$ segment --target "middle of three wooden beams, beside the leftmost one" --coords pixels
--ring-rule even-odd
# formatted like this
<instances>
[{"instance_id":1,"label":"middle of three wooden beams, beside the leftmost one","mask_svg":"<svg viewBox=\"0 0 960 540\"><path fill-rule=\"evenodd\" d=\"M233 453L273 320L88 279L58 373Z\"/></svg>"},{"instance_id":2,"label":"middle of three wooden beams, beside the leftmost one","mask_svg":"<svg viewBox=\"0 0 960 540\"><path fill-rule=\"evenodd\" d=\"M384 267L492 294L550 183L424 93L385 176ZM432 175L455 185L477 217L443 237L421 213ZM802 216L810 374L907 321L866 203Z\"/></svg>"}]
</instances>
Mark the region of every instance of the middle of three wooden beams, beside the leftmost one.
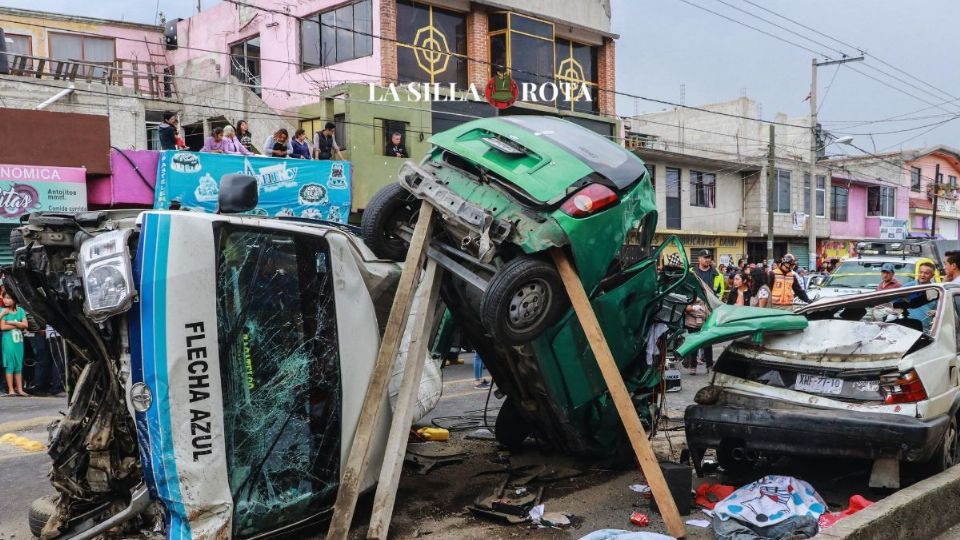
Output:
<instances>
[{"instance_id":1,"label":"middle of three wooden beams, beside the leftmost one","mask_svg":"<svg viewBox=\"0 0 960 540\"><path fill-rule=\"evenodd\" d=\"M373 512L367 538L386 540L393 516L393 505L397 498L397 485L403 470L403 457L406 454L407 440L410 438L410 424L413 423L413 409L420 394L420 379L423 377L423 359L430 354L430 330L433 328L437 313L437 299L440 296L440 275L435 261L427 261L421 287L425 287L418 298L410 330L410 347L403 368L400 393L393 410L393 422L390 425L390 437L387 450L383 455L380 469L380 481L373 499Z\"/></svg>"}]
</instances>

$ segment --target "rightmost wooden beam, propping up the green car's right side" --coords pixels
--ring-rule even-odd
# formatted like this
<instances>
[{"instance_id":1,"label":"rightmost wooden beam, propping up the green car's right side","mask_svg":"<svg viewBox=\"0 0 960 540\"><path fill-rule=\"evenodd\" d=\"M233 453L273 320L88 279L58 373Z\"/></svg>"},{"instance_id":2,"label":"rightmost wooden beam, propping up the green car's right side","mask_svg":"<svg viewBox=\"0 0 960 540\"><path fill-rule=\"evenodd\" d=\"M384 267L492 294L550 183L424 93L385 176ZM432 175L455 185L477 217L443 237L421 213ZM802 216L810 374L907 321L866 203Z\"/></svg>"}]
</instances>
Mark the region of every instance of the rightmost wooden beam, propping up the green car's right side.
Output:
<instances>
[{"instance_id":1,"label":"rightmost wooden beam, propping up the green car's right side","mask_svg":"<svg viewBox=\"0 0 960 540\"><path fill-rule=\"evenodd\" d=\"M553 248L550 250L550 254L560 271L560 277L563 279L563 285L567 289L571 304L573 304L573 310L580 320L583 333L587 336L587 341L593 350L593 356L597 359L597 365L600 366L603 380L606 381L607 388L610 390L610 397L613 398L617 413L620 415L620 421L623 422L623 427L627 431L627 437L630 439L630 445L633 446L633 452L637 456L640 470L643 472L647 484L650 485L653 498L657 501L657 507L660 509L663 521L667 525L667 531L677 538L682 538L686 536L687 532L683 526L683 520L680 519L677 503L673 500L667 481L663 477L663 471L660 469L660 463L657 462L657 456L653 453L653 448L647 440L647 433L643 429L643 424L640 423L640 416L633 406L633 400L630 399L627 386L623 383L620 370L617 369L617 364L613 360L610 346L607 345L607 340L603 337L603 330L600 328L600 322L597 321L596 313L593 312L593 306L590 305L587 292L583 289L583 283L580 282L577 271L570 264L563 250Z\"/></svg>"}]
</instances>

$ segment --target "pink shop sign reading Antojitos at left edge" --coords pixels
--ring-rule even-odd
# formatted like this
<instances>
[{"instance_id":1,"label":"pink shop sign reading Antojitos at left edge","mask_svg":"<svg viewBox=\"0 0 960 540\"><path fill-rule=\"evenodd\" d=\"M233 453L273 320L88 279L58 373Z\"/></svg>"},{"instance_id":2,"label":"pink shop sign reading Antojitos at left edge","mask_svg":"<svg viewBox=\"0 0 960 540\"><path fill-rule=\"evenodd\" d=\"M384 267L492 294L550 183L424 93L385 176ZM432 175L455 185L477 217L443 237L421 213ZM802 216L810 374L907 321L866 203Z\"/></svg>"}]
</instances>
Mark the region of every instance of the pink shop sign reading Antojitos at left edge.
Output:
<instances>
[{"instance_id":1,"label":"pink shop sign reading Antojitos at left edge","mask_svg":"<svg viewBox=\"0 0 960 540\"><path fill-rule=\"evenodd\" d=\"M83 167L0 165L0 223L19 223L30 212L84 212Z\"/></svg>"}]
</instances>

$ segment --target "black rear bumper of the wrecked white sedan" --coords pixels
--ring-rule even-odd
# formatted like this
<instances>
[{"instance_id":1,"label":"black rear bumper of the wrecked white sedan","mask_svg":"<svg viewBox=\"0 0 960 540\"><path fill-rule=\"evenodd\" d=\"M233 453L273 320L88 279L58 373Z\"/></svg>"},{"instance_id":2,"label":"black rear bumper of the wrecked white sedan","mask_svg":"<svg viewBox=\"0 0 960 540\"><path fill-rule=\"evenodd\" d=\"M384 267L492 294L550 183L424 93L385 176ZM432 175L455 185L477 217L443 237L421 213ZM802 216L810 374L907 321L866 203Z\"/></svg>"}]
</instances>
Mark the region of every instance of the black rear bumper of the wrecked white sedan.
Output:
<instances>
[{"instance_id":1,"label":"black rear bumper of the wrecked white sedan","mask_svg":"<svg viewBox=\"0 0 960 540\"><path fill-rule=\"evenodd\" d=\"M691 405L684 415L687 445L703 451L721 442L763 453L924 461L933 455L949 418L890 413L783 408L769 398L738 396L736 405ZM779 405L779 407L777 407Z\"/></svg>"}]
</instances>

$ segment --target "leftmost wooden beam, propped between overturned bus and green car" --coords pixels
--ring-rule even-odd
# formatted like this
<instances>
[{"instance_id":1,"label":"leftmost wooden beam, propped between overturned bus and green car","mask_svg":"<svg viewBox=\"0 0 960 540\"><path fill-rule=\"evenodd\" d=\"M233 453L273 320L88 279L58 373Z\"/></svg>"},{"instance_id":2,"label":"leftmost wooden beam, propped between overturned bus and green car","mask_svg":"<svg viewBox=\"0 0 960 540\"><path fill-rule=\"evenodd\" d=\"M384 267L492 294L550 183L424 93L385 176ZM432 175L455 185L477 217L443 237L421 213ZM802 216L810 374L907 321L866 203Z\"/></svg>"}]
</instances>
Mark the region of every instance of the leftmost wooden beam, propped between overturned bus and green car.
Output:
<instances>
[{"instance_id":1,"label":"leftmost wooden beam, propped between overturned bus and green car","mask_svg":"<svg viewBox=\"0 0 960 540\"><path fill-rule=\"evenodd\" d=\"M410 249L407 250L407 260L404 262L400 282L397 284L397 292L393 297L393 306L390 308L387 328L384 330L383 340L380 342L377 362L374 364L370 383L367 386L367 393L363 398L363 409L360 411L360 419L353 435L350 454L347 457L343 473L340 475L337 502L333 506L333 517L327 531L328 540L346 540L347 534L350 532L353 512L357 506L357 498L360 496L360 483L363 481L364 472L369 465L370 445L377 426L377 419L380 417L380 406L387 392L387 384L390 382L390 368L393 366L393 361L400 348L400 338L403 336L410 304L413 300L414 285L416 285L417 278L420 277L420 268L427 252L427 243L430 238L430 231L433 228L432 218L433 207L429 204L421 205L420 217L417 220L416 228L413 230Z\"/></svg>"}]
</instances>

